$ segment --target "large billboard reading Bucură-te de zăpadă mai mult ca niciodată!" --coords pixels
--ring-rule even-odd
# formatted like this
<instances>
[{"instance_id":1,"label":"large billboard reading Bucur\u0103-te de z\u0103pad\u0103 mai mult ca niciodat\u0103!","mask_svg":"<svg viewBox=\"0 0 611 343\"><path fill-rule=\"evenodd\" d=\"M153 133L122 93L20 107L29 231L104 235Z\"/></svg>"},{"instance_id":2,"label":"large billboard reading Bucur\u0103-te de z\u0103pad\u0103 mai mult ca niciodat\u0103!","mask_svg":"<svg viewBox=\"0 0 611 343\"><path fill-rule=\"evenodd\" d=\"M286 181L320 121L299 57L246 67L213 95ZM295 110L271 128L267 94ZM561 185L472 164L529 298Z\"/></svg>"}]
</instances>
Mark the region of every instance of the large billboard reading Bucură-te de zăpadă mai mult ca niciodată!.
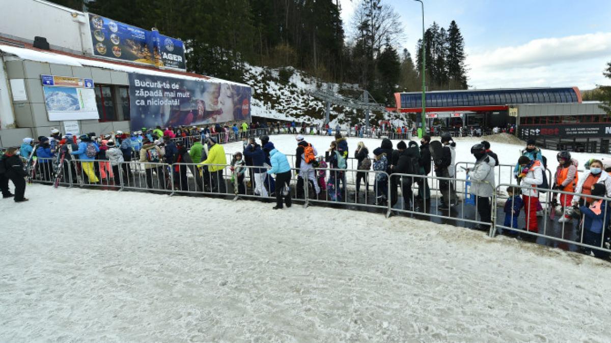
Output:
<instances>
[{"instance_id":1,"label":"large billboard reading Bucur\u0103-te de z\u0103pad\u0103 mai mult ca niciodat\u0103!","mask_svg":"<svg viewBox=\"0 0 611 343\"><path fill-rule=\"evenodd\" d=\"M251 121L251 87L130 73L130 126Z\"/></svg>"}]
</instances>

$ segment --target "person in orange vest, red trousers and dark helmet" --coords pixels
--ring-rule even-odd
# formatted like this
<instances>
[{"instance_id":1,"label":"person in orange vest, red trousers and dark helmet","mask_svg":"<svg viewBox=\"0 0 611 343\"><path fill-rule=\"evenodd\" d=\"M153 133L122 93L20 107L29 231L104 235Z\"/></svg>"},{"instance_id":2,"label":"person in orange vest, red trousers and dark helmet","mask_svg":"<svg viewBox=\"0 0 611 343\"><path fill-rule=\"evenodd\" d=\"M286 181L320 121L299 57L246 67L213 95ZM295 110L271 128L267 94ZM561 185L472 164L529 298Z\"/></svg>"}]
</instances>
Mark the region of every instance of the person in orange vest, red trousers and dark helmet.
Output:
<instances>
[{"instance_id":1,"label":"person in orange vest, red trousers and dark helmet","mask_svg":"<svg viewBox=\"0 0 611 343\"><path fill-rule=\"evenodd\" d=\"M556 155L558 159L558 167L556 168L555 182L552 189L563 190L565 192L575 192L575 188L577 187L577 181L579 181L579 175L577 175L577 161L571 158L571 154L568 151L560 151ZM555 202L555 193L552 193L554 199L552 201ZM571 206L571 201L573 201L572 194L560 194L560 203L558 206L564 209L567 206ZM565 213L560 219L558 219L558 223L568 223L571 222L571 217Z\"/></svg>"}]
</instances>

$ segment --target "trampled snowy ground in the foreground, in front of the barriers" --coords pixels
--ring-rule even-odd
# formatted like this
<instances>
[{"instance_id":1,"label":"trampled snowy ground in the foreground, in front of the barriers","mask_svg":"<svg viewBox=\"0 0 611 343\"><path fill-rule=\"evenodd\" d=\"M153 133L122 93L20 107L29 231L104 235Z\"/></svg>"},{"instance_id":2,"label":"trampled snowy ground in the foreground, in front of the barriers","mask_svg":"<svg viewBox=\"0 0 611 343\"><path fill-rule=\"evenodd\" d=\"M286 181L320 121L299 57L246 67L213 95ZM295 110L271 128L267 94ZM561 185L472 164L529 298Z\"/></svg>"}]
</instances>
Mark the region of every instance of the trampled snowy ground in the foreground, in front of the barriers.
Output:
<instances>
[{"instance_id":1,"label":"trampled snowy ground in the foreground, in front of the barriers","mask_svg":"<svg viewBox=\"0 0 611 343\"><path fill-rule=\"evenodd\" d=\"M2 342L610 337L611 267L589 256L331 208L26 196L0 201Z\"/></svg>"}]
</instances>

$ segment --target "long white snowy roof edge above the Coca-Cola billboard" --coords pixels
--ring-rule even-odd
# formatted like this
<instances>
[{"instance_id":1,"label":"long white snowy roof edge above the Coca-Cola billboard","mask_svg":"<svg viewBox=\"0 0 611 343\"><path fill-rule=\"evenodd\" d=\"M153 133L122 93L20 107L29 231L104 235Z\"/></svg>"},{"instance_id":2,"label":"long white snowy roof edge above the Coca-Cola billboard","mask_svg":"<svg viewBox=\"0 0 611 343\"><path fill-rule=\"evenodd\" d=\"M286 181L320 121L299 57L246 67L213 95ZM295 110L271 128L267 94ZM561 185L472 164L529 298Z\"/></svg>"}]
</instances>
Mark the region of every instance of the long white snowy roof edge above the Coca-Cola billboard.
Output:
<instances>
[{"instance_id":1,"label":"long white snowy roof edge above the Coca-Cola billboard","mask_svg":"<svg viewBox=\"0 0 611 343\"><path fill-rule=\"evenodd\" d=\"M234 84L243 87L250 87L246 84L240 84L238 82L227 81L223 79L211 78L210 76L203 76L195 73L187 73L185 71L175 70L156 70L152 67L139 67L135 65L129 65L121 62L111 62L99 59L93 59L91 57L78 56L68 54L67 52L61 51L43 51L35 48L18 48L10 45L0 45L0 52L4 54L10 54L19 57L24 60L32 60L36 62L56 63L62 65L70 65L72 67L95 67L104 68L109 70L124 71L125 73L139 73L148 74L154 76L164 76L166 78L178 78L194 81L211 81L211 82L222 82L224 84Z\"/></svg>"}]
</instances>

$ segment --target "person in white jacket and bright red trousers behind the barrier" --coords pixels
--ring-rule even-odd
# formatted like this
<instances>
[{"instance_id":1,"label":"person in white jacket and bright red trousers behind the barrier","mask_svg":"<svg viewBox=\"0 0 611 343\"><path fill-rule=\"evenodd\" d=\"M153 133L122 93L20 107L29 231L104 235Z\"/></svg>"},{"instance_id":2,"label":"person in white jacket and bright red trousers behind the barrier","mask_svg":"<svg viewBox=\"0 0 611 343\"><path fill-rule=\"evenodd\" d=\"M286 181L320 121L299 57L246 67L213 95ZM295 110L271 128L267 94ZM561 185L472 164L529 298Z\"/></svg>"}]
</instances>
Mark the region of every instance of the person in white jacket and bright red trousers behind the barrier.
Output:
<instances>
[{"instance_id":1,"label":"person in white jacket and bright red trousers behind the barrier","mask_svg":"<svg viewBox=\"0 0 611 343\"><path fill-rule=\"evenodd\" d=\"M528 156L520 156L518 165L518 181L522 186L526 229L538 233L539 225L536 219L536 205L538 203L539 191L536 187L543 184L543 165L538 160L532 161Z\"/></svg>"}]
</instances>

